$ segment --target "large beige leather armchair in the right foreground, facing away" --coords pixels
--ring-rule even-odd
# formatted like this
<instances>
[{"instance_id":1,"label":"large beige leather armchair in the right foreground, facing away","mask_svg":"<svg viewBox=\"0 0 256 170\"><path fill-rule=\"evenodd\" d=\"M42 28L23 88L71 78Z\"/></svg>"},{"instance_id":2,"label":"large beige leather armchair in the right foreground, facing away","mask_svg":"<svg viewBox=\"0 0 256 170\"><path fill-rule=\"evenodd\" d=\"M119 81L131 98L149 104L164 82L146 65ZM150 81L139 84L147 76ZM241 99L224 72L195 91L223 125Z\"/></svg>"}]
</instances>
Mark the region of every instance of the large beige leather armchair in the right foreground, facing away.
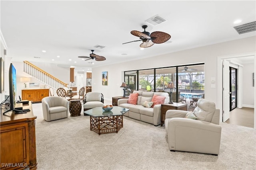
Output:
<instances>
[{"instance_id":1,"label":"large beige leather armchair in the right foreground, facing away","mask_svg":"<svg viewBox=\"0 0 256 170\"><path fill-rule=\"evenodd\" d=\"M220 109L202 98L193 112L166 111L164 125L169 149L218 155L221 137L219 122Z\"/></svg>"}]
</instances>

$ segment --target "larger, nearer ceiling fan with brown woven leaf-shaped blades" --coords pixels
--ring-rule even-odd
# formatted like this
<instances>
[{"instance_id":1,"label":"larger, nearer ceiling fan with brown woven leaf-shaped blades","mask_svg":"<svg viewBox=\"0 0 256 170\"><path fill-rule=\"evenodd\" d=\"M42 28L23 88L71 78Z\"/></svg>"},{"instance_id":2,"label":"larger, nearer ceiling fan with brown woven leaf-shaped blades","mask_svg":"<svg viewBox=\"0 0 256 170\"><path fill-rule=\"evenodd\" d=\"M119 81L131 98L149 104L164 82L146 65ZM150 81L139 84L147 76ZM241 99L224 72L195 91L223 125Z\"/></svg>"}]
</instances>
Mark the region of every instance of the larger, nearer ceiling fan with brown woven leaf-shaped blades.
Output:
<instances>
[{"instance_id":1,"label":"larger, nearer ceiling fan with brown woven leaf-shaped blades","mask_svg":"<svg viewBox=\"0 0 256 170\"><path fill-rule=\"evenodd\" d=\"M140 40L135 40L135 41L142 41L143 43L140 44L140 47L142 47L142 48L151 47L152 45L154 45L154 43L156 43L156 44L164 43L171 38L171 35L169 35L168 33L161 32L161 31L155 31L150 34L149 32L146 31L147 27L148 27L147 25L142 26L142 28L144 29L143 32L131 31L132 35L140 37ZM130 41L127 43L131 43L131 42L135 42L135 41ZM123 43L123 44L126 44L126 43Z\"/></svg>"}]
</instances>

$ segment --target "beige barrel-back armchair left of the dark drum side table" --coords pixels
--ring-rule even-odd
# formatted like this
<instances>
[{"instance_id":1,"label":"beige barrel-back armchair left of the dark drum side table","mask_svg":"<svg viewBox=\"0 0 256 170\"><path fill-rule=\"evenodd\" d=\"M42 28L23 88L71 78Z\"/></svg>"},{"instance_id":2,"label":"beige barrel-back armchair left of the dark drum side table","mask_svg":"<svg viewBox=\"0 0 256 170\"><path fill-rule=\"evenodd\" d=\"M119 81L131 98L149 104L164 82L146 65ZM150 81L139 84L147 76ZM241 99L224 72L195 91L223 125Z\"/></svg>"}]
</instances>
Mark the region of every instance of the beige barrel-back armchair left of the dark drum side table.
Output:
<instances>
[{"instance_id":1,"label":"beige barrel-back armchair left of the dark drum side table","mask_svg":"<svg viewBox=\"0 0 256 170\"><path fill-rule=\"evenodd\" d=\"M68 117L69 101L60 96L48 96L42 99L44 120L53 121Z\"/></svg>"}]
</instances>

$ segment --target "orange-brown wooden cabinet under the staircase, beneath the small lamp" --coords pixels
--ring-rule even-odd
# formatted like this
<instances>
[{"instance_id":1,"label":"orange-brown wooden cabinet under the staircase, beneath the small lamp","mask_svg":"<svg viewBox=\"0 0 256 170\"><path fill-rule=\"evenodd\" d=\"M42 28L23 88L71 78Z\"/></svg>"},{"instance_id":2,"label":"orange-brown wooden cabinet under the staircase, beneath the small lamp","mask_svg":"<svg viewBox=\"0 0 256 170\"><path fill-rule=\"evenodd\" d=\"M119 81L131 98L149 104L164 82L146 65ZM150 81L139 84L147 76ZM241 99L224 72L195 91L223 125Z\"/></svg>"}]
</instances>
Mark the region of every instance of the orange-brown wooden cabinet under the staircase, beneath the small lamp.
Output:
<instances>
[{"instance_id":1,"label":"orange-brown wooden cabinet under the staircase, beneath the small lamp","mask_svg":"<svg viewBox=\"0 0 256 170\"><path fill-rule=\"evenodd\" d=\"M49 89L22 89L22 100L29 100L34 102L42 102L42 98L49 96Z\"/></svg>"}]
</instances>

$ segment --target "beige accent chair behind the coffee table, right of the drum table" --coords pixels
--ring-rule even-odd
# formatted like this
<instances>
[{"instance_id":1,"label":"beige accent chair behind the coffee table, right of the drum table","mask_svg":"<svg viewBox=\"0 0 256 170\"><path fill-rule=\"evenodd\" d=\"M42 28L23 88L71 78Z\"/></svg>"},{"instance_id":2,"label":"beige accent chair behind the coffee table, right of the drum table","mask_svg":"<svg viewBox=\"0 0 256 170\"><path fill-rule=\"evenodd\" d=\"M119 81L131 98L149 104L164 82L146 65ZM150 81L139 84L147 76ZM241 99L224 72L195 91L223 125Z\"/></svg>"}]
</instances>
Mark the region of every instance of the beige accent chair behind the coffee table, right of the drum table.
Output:
<instances>
[{"instance_id":1,"label":"beige accent chair behind the coffee table, right of the drum table","mask_svg":"<svg viewBox=\"0 0 256 170\"><path fill-rule=\"evenodd\" d=\"M84 96L84 111L104 106L104 96L100 92L88 92ZM84 113L84 115L86 115Z\"/></svg>"}]
</instances>

